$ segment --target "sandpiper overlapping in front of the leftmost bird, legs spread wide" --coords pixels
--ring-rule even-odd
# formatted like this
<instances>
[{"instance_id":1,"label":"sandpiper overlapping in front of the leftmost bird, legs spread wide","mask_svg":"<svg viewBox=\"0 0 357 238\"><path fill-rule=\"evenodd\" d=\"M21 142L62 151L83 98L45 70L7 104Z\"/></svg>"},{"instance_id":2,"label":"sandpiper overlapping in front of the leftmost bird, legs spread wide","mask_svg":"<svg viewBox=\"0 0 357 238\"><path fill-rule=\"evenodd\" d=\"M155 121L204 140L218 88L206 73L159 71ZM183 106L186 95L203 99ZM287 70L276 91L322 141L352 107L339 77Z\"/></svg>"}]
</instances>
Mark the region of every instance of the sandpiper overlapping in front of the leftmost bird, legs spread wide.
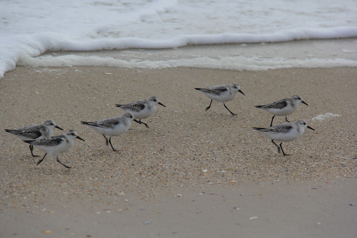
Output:
<instances>
[{"instance_id":1,"label":"sandpiper overlapping in front of the leftmost bird, legs spread wide","mask_svg":"<svg viewBox=\"0 0 357 238\"><path fill-rule=\"evenodd\" d=\"M74 143L74 138L85 141L77 135L76 131L69 130L60 136L52 136L40 140L32 140L32 141L24 141L24 142L29 143L30 145L34 145L37 148L39 148L41 151L45 152L45 156L41 160L37 161L37 165L39 165L48 154L49 156L56 157L57 162L62 164L64 167L72 168L63 164L59 160L58 155L60 153L65 153L72 148Z\"/></svg>"}]
</instances>

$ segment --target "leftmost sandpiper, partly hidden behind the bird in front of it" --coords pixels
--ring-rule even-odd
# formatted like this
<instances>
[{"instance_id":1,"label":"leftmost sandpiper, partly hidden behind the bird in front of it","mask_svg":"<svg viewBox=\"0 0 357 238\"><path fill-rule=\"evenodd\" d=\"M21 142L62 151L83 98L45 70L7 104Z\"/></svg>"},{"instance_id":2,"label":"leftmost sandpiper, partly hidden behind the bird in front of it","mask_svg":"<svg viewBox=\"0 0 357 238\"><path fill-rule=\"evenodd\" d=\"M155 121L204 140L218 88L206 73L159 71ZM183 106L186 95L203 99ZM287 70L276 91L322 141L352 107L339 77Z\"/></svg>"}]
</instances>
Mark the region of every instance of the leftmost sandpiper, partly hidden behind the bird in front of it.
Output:
<instances>
[{"instance_id":1,"label":"leftmost sandpiper, partly hidden behind the bird in front of it","mask_svg":"<svg viewBox=\"0 0 357 238\"><path fill-rule=\"evenodd\" d=\"M52 136L53 128L55 127L63 131L63 129L59 126L56 126L55 122L52 120L45 121L43 125L36 124L26 126L17 130L5 129L5 131L17 136L22 141L41 140L43 138ZM32 157L39 157L38 155L34 155L34 153L32 152L34 150L34 146L30 145L29 147Z\"/></svg>"}]
</instances>

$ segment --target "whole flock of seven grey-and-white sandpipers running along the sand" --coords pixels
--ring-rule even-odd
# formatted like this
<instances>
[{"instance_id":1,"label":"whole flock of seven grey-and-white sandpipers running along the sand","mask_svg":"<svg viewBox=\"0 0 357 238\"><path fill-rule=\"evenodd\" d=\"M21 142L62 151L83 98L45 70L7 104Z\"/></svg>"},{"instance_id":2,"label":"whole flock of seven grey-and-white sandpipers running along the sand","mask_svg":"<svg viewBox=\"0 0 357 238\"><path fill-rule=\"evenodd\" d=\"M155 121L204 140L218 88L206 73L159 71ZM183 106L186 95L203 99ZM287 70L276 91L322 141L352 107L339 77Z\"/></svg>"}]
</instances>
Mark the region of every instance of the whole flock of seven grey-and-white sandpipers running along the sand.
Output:
<instances>
[{"instance_id":1,"label":"whole flock of seven grey-and-white sandpipers running along the sand","mask_svg":"<svg viewBox=\"0 0 357 238\"><path fill-rule=\"evenodd\" d=\"M231 85L218 85L213 86L210 88L195 88L198 91L201 91L204 95L211 99L210 106L206 107L206 111L211 107L212 101L222 102L224 107L232 114L237 115L231 112L225 102L233 100L236 97L237 92L242 93L245 95L241 90L240 86L236 83ZM305 131L305 128L310 128L311 130L315 130L307 125L306 121L304 120L297 120L295 123L289 122L287 120L287 115L293 113L299 106L300 103L304 102L299 95L294 95L291 98L284 98L275 102L272 102L267 105L255 106L257 108L262 108L267 112L273 115L270 127L268 128L261 128L261 127L253 127L254 131L258 131L266 135L272 143L278 148L278 153L281 151L284 156L288 155L283 151L282 143L294 141L299 138ZM101 121L95 122L86 122L82 121L83 125L89 126L94 129L96 132L102 134L106 140L106 144L111 146L113 151L115 150L112 143L111 137L112 136L120 136L129 130L130 124L132 121L135 121L140 124L144 124L147 128L149 126L142 122L142 119L146 119L154 114L156 110L156 105L159 104L161 106L166 107L164 104L159 102L159 99L156 96L151 96L147 100L141 100L137 102L131 102L129 104L120 105L117 104L116 106L121 108L122 110L126 111L120 117L111 117ZM280 125L272 126L273 120L275 116L285 116L285 120L288 123L283 123ZM139 120L139 121L138 121ZM59 126L56 126L55 122L52 120L45 121L43 125L31 125L27 126L18 130L5 130L6 132L12 133L16 135L20 140L24 141L25 143L30 144L30 151L33 157L38 157L34 155L33 148L34 146L39 148L39 150L44 151L44 157L37 162L39 165L46 155L56 157L57 162L65 166L66 168L72 168L65 164L63 164L58 155L60 153L64 153L70 150L73 146L74 139L83 140L81 137L77 135L77 132L74 130L69 130L63 135L59 136L52 136L52 132L54 128L58 128L63 130ZM108 138L109 137L109 140ZM280 147L276 145L274 141L280 141Z\"/></svg>"}]
</instances>

